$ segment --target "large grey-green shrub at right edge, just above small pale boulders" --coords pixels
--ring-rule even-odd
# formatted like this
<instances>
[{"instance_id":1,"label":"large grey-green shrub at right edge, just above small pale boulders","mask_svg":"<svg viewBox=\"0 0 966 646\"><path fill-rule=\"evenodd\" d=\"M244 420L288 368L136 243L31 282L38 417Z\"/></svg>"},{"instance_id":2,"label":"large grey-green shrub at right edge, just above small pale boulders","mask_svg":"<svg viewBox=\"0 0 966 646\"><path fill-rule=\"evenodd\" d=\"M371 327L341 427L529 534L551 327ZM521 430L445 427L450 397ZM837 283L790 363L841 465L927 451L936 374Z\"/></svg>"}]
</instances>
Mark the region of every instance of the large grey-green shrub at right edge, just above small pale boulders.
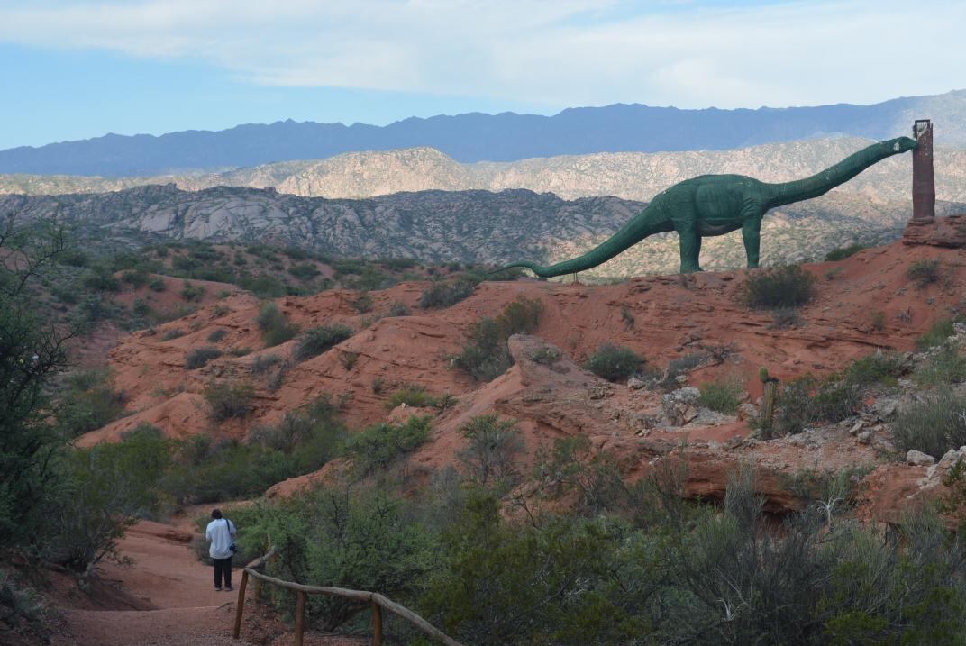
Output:
<instances>
[{"instance_id":1,"label":"large grey-green shrub at right edge, just above small pale boulders","mask_svg":"<svg viewBox=\"0 0 966 646\"><path fill-rule=\"evenodd\" d=\"M916 449L937 460L966 445L966 398L941 388L903 408L895 417L893 443L902 453Z\"/></svg>"}]
</instances>

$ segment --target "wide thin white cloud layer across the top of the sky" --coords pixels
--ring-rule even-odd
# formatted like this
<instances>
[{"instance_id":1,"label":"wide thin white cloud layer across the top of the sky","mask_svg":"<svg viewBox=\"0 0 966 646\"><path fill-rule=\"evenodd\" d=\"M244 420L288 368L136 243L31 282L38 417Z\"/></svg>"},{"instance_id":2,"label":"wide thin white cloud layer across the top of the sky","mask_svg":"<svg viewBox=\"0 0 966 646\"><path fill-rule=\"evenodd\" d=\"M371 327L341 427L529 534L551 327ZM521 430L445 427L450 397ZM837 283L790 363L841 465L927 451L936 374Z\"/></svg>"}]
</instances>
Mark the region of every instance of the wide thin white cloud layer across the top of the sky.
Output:
<instances>
[{"instance_id":1,"label":"wide thin white cloud layer across the top of the sky","mask_svg":"<svg viewBox=\"0 0 966 646\"><path fill-rule=\"evenodd\" d=\"M10 3L7 3L8 5ZM966 3L149 0L0 4L0 42L199 59L253 83L755 107L966 87Z\"/></svg>"}]
</instances>

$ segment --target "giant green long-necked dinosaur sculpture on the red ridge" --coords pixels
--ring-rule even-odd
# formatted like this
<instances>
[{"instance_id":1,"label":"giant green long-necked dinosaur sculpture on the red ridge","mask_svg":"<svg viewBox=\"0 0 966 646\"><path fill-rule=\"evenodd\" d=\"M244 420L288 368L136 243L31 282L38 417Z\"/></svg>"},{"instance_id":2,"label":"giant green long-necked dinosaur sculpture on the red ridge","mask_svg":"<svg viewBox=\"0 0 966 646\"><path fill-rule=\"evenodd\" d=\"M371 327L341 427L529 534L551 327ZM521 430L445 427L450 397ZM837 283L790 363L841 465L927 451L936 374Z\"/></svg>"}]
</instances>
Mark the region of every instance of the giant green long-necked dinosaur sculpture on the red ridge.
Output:
<instances>
[{"instance_id":1,"label":"giant green long-necked dinosaur sculpture on the red ridge","mask_svg":"<svg viewBox=\"0 0 966 646\"><path fill-rule=\"evenodd\" d=\"M606 263L648 236L676 231L681 238L681 273L690 273L701 271L698 256L703 236L724 236L737 229L741 229L745 242L748 267L758 267L761 218L768 210L824 195L872 164L916 146L916 141L909 137L880 141L821 173L795 182L765 183L744 175L701 175L656 195L611 238L578 258L549 267L514 263L502 269L526 267L541 278L577 273Z\"/></svg>"}]
</instances>

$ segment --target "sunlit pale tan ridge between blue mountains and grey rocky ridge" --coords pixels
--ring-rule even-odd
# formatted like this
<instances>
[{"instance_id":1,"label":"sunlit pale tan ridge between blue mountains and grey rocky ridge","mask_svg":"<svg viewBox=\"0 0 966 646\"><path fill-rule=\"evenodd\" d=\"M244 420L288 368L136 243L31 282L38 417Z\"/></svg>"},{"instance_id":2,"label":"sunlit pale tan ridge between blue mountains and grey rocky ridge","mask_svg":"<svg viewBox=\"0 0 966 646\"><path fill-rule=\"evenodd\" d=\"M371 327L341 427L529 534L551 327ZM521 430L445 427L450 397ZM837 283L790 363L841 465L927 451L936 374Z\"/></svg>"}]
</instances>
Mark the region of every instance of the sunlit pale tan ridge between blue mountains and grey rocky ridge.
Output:
<instances>
[{"instance_id":1,"label":"sunlit pale tan ridge between blue mountains and grey rocky ridge","mask_svg":"<svg viewBox=\"0 0 966 646\"><path fill-rule=\"evenodd\" d=\"M673 183L713 173L750 175L766 182L807 177L871 143L857 137L766 144L732 151L599 153L462 164L435 149L349 153L197 176L100 179L82 176L0 176L0 193L60 194L123 190L147 183L176 183L186 190L213 186L274 186L309 197L368 198L402 191L526 188L564 199L614 195L649 200ZM966 150L935 151L941 200L966 202ZM891 157L838 190L872 201L908 200L911 161Z\"/></svg>"}]
</instances>

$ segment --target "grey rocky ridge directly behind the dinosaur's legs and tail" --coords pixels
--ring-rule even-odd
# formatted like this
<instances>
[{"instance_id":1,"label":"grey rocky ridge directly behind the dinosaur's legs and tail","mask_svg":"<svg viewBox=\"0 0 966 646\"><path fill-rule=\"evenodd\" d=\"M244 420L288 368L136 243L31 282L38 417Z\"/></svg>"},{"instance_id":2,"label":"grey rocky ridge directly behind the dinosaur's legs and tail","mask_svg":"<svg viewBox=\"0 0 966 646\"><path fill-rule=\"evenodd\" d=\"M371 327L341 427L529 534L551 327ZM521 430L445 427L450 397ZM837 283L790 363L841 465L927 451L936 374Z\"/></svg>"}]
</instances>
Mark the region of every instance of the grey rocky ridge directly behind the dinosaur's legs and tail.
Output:
<instances>
[{"instance_id":1,"label":"grey rocky ridge directly behind the dinosaur's legs and tail","mask_svg":"<svg viewBox=\"0 0 966 646\"><path fill-rule=\"evenodd\" d=\"M0 198L0 212L59 217L87 235L119 242L266 240L336 256L496 264L549 263L576 256L606 239L643 206L617 197L566 201L524 189L329 200L252 188L189 192L151 185L103 194ZM941 203L938 210L966 211L966 205ZM859 194L833 191L767 216L762 260L796 262L856 240L889 241L898 237L909 213L905 202L873 204ZM741 267L740 235L706 239L702 264ZM588 273L626 276L672 272L677 266L677 237L666 234Z\"/></svg>"}]
</instances>

